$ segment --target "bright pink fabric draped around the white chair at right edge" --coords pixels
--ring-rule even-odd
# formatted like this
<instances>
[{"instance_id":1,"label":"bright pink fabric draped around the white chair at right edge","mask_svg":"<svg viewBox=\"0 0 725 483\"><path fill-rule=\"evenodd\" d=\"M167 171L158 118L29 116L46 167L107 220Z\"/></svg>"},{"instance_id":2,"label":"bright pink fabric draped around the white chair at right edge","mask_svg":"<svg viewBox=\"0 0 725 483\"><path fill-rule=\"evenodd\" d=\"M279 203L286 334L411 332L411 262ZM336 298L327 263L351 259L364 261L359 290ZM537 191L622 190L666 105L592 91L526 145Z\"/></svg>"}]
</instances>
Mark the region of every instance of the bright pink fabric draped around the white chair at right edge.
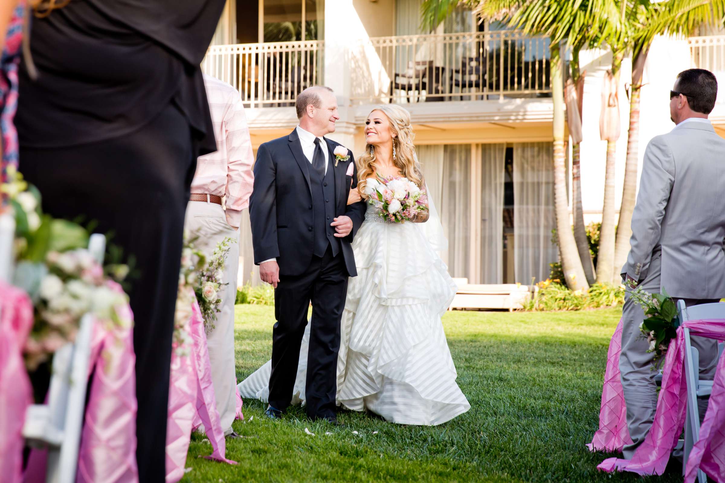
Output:
<instances>
[{"instance_id":1,"label":"bright pink fabric draped around the white chair at right edge","mask_svg":"<svg viewBox=\"0 0 725 483\"><path fill-rule=\"evenodd\" d=\"M711 339L722 339L725 336L725 319L693 320L685 322L682 327L689 328L690 335L694 336ZM663 474L665 471L670 453L677 444L685 421L687 382L684 377L684 332L682 327L677 329L677 337L671 341L667 350L655 419L645 441L639 445L631 460L608 458L597 466L598 469L610 473L632 471L640 475ZM720 361L718 369L722 369L722 367L723 362ZM711 473L713 469L721 468L722 461L725 461L725 437L723 436L725 416L722 409L725 401L718 400L725 395L724 386L725 371L718 370L713 383L713 395L705 414L705 421L709 421L709 424L708 427L703 424L700 440L696 445L696 448L699 447L702 451L698 462L700 469L716 479L717 482L725 481L721 473ZM717 389L717 394L715 389ZM696 462L688 461L688 463L688 474L694 479Z\"/></svg>"}]
</instances>

